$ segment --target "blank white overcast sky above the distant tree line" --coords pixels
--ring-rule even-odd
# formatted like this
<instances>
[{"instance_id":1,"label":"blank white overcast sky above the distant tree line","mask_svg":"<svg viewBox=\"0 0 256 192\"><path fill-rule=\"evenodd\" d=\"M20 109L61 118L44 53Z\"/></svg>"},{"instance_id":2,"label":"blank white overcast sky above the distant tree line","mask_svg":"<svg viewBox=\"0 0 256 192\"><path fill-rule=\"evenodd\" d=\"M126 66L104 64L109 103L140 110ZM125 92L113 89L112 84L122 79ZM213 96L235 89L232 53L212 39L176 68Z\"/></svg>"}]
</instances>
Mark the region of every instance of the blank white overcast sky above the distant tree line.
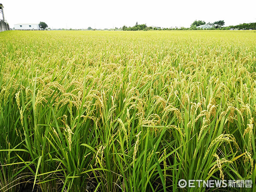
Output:
<instances>
[{"instance_id":1,"label":"blank white overcast sky above the distant tree line","mask_svg":"<svg viewBox=\"0 0 256 192\"><path fill-rule=\"evenodd\" d=\"M50 28L189 27L194 20L225 26L256 22L256 0L1 0L10 27L44 21Z\"/></svg>"}]
</instances>

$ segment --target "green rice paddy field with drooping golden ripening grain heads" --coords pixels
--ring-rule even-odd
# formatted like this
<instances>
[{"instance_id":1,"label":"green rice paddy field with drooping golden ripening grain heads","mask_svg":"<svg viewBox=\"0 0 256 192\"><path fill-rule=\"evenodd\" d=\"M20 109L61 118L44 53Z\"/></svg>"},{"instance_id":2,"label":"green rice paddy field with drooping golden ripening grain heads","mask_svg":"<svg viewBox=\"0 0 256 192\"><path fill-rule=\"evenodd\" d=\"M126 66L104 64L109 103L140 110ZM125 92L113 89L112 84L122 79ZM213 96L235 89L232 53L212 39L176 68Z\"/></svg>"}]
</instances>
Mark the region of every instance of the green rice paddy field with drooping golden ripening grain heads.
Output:
<instances>
[{"instance_id":1,"label":"green rice paddy field with drooping golden ripening grain heads","mask_svg":"<svg viewBox=\"0 0 256 192\"><path fill-rule=\"evenodd\" d=\"M255 31L0 33L0 192L256 191L255 119Z\"/></svg>"}]
</instances>

